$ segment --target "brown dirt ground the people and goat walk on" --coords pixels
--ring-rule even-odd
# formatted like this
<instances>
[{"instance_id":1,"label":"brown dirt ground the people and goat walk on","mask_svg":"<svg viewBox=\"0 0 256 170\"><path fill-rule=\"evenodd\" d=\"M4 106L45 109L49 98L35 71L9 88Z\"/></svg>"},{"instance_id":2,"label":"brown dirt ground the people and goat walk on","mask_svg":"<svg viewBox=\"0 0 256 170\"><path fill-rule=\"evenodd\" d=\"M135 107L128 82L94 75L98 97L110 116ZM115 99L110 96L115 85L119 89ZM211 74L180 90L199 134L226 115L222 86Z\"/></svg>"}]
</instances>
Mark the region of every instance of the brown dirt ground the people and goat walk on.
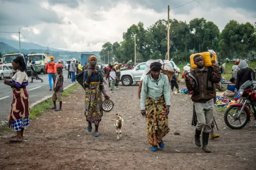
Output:
<instances>
[{"instance_id":1,"label":"brown dirt ground the people and goat walk on","mask_svg":"<svg viewBox=\"0 0 256 170\"><path fill-rule=\"evenodd\" d=\"M64 99L63 111L47 111L31 121L24 132L24 143L6 142L14 132L4 132L0 138L0 169L255 170L255 121L243 129L232 130L224 124L223 113L215 113L220 138L209 140L213 152L206 154L194 144L189 95L171 95L170 133L164 137L164 149L150 150L145 118L141 115L124 122L122 139L117 141L111 119L116 118L116 113L124 120L140 113L137 90L138 86L133 85L108 92L115 106L104 114L100 137L96 138L92 136L94 127L91 133L87 131L84 90L78 88Z\"/></svg>"}]
</instances>

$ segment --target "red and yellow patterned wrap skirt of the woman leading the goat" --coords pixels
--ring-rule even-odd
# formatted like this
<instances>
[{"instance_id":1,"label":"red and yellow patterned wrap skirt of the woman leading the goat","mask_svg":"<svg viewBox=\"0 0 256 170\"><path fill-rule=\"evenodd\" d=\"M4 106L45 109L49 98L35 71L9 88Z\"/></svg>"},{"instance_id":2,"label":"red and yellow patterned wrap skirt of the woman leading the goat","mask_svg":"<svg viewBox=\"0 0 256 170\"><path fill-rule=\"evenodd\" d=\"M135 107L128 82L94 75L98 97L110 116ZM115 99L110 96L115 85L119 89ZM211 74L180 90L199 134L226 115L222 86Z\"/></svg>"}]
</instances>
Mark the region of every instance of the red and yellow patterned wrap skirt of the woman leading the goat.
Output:
<instances>
[{"instance_id":1,"label":"red and yellow patterned wrap skirt of the woman leading the goat","mask_svg":"<svg viewBox=\"0 0 256 170\"><path fill-rule=\"evenodd\" d=\"M170 131L168 127L168 115L165 114L166 102L164 96L158 101L146 98L146 131L150 145L157 145Z\"/></svg>"}]
</instances>

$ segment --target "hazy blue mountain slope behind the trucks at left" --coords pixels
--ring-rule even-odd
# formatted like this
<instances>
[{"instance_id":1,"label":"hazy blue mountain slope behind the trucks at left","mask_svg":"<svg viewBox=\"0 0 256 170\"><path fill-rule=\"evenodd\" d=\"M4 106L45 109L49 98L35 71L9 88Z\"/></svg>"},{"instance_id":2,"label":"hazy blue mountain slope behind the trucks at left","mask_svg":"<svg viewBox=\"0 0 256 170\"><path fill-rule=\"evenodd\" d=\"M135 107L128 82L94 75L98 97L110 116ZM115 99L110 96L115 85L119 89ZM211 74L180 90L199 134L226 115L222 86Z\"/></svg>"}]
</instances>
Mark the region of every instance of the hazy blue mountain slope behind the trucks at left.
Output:
<instances>
[{"instance_id":1,"label":"hazy blue mountain slope behind the trucks at left","mask_svg":"<svg viewBox=\"0 0 256 170\"><path fill-rule=\"evenodd\" d=\"M7 54L10 52L19 53L19 41L4 39L0 37L0 50L2 54ZM30 53L48 53L47 47L43 47L40 45L35 45L34 43L22 42L21 44L21 53L30 54ZM93 54L98 59L100 59L99 51L84 51L84 52L74 52L74 51L65 51L61 49L49 48L50 54L53 55L56 60L58 59L71 59L76 58L79 59L81 54Z\"/></svg>"}]
</instances>

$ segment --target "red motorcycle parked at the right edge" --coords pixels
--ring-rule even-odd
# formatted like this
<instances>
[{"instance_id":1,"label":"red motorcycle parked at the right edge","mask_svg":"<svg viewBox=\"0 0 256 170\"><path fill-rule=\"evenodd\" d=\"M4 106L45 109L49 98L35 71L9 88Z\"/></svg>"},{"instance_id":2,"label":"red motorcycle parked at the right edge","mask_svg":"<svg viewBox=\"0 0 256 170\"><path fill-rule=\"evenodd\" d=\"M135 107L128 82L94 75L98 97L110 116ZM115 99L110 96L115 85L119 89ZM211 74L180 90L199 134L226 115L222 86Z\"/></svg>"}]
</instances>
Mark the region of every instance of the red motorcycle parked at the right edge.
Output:
<instances>
[{"instance_id":1,"label":"red motorcycle parked at the right edge","mask_svg":"<svg viewBox=\"0 0 256 170\"><path fill-rule=\"evenodd\" d=\"M250 121L250 111L256 115L256 81L246 81L238 90L240 103L231 104L224 121L231 129L242 129Z\"/></svg>"}]
</instances>

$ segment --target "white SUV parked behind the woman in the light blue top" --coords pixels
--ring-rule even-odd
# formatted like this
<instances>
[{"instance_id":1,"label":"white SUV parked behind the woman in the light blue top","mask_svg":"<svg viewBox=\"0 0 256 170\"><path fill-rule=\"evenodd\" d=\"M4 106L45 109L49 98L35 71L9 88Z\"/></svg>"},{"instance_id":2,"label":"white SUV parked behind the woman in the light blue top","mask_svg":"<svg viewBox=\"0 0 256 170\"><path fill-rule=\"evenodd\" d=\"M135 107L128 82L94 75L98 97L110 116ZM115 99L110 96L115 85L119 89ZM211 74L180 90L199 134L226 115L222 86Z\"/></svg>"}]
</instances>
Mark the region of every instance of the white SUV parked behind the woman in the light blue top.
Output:
<instances>
[{"instance_id":1,"label":"white SUV parked behind the woman in the light blue top","mask_svg":"<svg viewBox=\"0 0 256 170\"><path fill-rule=\"evenodd\" d=\"M130 86L133 82L140 82L140 78L146 68L146 62L136 65L132 70L121 71L120 80L124 86Z\"/></svg>"}]
</instances>

